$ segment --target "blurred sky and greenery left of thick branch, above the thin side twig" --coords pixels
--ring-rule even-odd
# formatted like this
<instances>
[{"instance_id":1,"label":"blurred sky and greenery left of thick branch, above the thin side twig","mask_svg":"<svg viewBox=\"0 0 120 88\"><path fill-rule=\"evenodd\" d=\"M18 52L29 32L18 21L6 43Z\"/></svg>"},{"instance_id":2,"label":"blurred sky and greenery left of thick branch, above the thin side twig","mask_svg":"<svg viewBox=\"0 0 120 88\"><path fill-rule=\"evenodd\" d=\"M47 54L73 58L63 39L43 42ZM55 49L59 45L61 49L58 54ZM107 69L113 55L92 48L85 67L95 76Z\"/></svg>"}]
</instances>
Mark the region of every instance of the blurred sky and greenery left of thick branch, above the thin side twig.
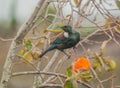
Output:
<instances>
[{"instance_id":1,"label":"blurred sky and greenery left of thick branch, above the thin side twig","mask_svg":"<svg viewBox=\"0 0 120 88\"><path fill-rule=\"evenodd\" d=\"M0 0L0 36L10 38L28 19L38 0Z\"/></svg>"}]
</instances>

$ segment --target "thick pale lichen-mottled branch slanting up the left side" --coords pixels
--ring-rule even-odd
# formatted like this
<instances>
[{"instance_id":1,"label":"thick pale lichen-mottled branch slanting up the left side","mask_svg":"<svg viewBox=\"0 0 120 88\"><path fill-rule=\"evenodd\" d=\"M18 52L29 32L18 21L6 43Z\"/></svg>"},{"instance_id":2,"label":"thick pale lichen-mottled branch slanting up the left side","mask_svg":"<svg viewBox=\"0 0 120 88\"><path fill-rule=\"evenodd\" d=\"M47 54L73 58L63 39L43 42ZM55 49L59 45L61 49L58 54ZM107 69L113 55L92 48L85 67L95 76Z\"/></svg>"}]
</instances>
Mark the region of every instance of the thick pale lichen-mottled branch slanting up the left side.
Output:
<instances>
[{"instance_id":1,"label":"thick pale lichen-mottled branch slanting up the left side","mask_svg":"<svg viewBox=\"0 0 120 88\"><path fill-rule=\"evenodd\" d=\"M0 83L0 88L7 88L7 84L8 81L11 77L11 73L12 73L12 60L15 58L15 48L17 46L17 44L19 44L22 39L26 36L26 34L31 30L31 28L33 27L33 25L35 24L34 20L38 14L39 11L41 11L44 9L44 7L46 6L47 0L40 0L38 2L37 7L35 8L33 14L31 15L31 17L28 19L28 21L26 21L23 26L19 29L16 37L13 39L5 64L4 64L4 69L3 69L3 75L2 75L2 79L1 79L1 83Z\"/></svg>"}]
</instances>

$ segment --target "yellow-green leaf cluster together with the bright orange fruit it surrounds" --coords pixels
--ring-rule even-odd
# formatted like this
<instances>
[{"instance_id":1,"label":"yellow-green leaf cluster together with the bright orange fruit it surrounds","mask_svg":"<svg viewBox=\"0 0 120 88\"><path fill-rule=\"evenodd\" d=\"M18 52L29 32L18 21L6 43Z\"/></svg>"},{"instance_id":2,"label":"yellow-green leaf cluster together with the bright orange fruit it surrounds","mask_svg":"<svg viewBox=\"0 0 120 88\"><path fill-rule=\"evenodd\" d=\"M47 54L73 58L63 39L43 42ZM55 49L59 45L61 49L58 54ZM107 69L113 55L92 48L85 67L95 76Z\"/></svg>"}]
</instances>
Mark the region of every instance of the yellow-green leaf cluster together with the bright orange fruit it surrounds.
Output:
<instances>
[{"instance_id":1,"label":"yellow-green leaf cluster together with the bright orange fruit it surrounds","mask_svg":"<svg viewBox=\"0 0 120 88\"><path fill-rule=\"evenodd\" d=\"M90 61L85 57L79 57L73 62L72 66L70 66L66 72L67 79L65 81L65 88L76 88L73 86L75 85L74 81L92 82L92 79L96 79L95 76L99 74L99 72L102 73L106 71L107 74L116 69L116 62L111 59L111 57L107 58L104 56L105 47L108 42L109 40L102 43L99 54L93 52L94 56L92 57L93 61L91 66ZM90 53L87 53L87 55L88 54ZM97 80L99 80L98 77Z\"/></svg>"}]
</instances>

